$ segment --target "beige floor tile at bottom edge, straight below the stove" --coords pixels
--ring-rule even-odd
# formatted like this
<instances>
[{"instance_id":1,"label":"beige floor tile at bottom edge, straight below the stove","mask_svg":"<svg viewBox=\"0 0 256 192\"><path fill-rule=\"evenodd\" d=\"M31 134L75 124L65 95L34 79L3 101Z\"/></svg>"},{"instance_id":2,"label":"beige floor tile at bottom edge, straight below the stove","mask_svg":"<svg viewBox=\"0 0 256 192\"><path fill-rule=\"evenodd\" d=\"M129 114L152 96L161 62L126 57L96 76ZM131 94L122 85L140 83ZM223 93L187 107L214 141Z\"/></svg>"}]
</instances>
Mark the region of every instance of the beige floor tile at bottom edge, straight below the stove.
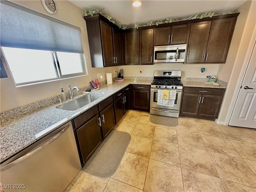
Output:
<instances>
[{"instance_id":1,"label":"beige floor tile at bottom edge, straight below the stove","mask_svg":"<svg viewBox=\"0 0 256 192\"><path fill-rule=\"evenodd\" d=\"M183 192L180 167L150 159L144 191Z\"/></svg>"}]
</instances>

